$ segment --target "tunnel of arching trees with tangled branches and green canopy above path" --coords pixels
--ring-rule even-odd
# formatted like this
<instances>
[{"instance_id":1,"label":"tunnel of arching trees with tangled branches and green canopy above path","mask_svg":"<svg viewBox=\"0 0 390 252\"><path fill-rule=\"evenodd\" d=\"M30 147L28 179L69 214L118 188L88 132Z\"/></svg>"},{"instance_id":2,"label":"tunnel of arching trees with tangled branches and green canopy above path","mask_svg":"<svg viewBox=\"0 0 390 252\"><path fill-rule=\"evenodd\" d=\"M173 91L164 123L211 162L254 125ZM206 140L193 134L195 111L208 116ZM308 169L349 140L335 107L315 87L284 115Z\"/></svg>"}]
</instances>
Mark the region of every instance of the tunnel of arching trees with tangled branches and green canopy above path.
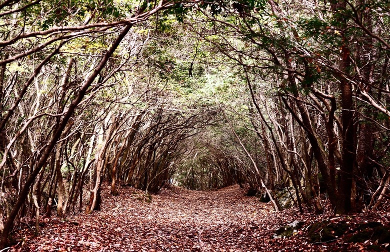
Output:
<instances>
[{"instance_id":1,"label":"tunnel of arching trees with tangled branches and green canopy above path","mask_svg":"<svg viewBox=\"0 0 390 252\"><path fill-rule=\"evenodd\" d=\"M23 216L98 210L103 181L113 195L287 186L302 212L324 193L335 213L374 209L390 182L389 13L387 0L1 1L0 247Z\"/></svg>"}]
</instances>

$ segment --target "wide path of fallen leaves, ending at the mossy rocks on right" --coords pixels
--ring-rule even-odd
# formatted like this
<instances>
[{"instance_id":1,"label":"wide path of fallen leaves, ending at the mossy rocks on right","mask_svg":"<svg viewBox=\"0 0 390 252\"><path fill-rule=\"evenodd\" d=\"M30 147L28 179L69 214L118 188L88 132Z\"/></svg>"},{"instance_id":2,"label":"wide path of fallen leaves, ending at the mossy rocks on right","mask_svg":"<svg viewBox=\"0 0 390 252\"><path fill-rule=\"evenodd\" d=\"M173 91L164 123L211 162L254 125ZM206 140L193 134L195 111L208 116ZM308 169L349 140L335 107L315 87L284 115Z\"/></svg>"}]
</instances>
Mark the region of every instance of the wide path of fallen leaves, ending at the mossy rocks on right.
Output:
<instances>
[{"instance_id":1,"label":"wide path of fallen leaves, ending at the mossy rocks on right","mask_svg":"<svg viewBox=\"0 0 390 252\"><path fill-rule=\"evenodd\" d=\"M216 191L103 189L99 212L43 218L40 235L14 251L263 251L281 219L238 185ZM266 249L265 249L266 250Z\"/></svg>"}]
</instances>

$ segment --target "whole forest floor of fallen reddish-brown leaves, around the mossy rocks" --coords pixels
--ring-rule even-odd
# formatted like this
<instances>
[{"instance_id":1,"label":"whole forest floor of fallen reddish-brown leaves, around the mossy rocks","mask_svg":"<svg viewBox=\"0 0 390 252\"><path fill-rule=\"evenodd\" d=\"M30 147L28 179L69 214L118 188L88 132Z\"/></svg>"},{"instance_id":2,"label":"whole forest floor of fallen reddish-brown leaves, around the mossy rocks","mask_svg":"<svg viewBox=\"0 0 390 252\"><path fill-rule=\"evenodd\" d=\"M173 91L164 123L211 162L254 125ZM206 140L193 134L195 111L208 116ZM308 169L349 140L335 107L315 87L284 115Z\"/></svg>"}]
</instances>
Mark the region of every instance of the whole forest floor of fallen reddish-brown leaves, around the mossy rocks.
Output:
<instances>
[{"instance_id":1,"label":"whole forest floor of fallen reddish-brown leaves, around the mossy rocks","mask_svg":"<svg viewBox=\"0 0 390 252\"><path fill-rule=\"evenodd\" d=\"M33 228L14 233L17 244L11 251L381 251L390 247L375 245L378 240L373 238L350 241L361 223L388 224L388 209L338 217L299 214L296 208L275 212L270 202L244 196L245 192L238 185L213 191L173 187L161 189L149 200L144 192L127 186L114 197L104 185L101 211L67 218L43 216L39 235L33 235ZM303 225L293 236L272 237L294 220ZM312 242L309 227L325 220L347 223L348 228L328 242ZM33 226L33 219L25 221Z\"/></svg>"}]
</instances>

